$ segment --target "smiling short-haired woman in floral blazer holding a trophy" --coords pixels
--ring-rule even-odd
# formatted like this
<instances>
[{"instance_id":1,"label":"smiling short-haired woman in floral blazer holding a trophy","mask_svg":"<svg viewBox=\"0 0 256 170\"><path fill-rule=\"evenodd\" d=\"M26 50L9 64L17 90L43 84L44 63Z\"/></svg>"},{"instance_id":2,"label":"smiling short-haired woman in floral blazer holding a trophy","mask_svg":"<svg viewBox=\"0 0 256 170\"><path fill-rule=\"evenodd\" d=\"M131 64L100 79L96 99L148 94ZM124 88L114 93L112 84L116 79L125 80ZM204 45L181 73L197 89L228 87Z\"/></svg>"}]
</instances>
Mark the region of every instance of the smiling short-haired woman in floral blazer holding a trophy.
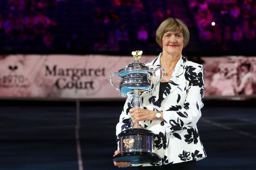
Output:
<instances>
[{"instance_id":1,"label":"smiling short-haired woman in floral blazer holding a trophy","mask_svg":"<svg viewBox=\"0 0 256 170\"><path fill-rule=\"evenodd\" d=\"M189 42L189 30L180 19L163 21L157 29L156 41L163 52L146 65L152 69L163 67L165 78L152 95L143 97L141 108L133 108L133 99L127 98L116 134L139 122L156 134L154 152L162 157L162 161L143 165L114 162L114 165L140 166L147 170L194 170L195 162L206 157L196 125L203 107L203 66L187 61L181 55ZM154 83L162 76L158 71L152 79ZM119 150L114 152L115 155L118 153Z\"/></svg>"}]
</instances>

